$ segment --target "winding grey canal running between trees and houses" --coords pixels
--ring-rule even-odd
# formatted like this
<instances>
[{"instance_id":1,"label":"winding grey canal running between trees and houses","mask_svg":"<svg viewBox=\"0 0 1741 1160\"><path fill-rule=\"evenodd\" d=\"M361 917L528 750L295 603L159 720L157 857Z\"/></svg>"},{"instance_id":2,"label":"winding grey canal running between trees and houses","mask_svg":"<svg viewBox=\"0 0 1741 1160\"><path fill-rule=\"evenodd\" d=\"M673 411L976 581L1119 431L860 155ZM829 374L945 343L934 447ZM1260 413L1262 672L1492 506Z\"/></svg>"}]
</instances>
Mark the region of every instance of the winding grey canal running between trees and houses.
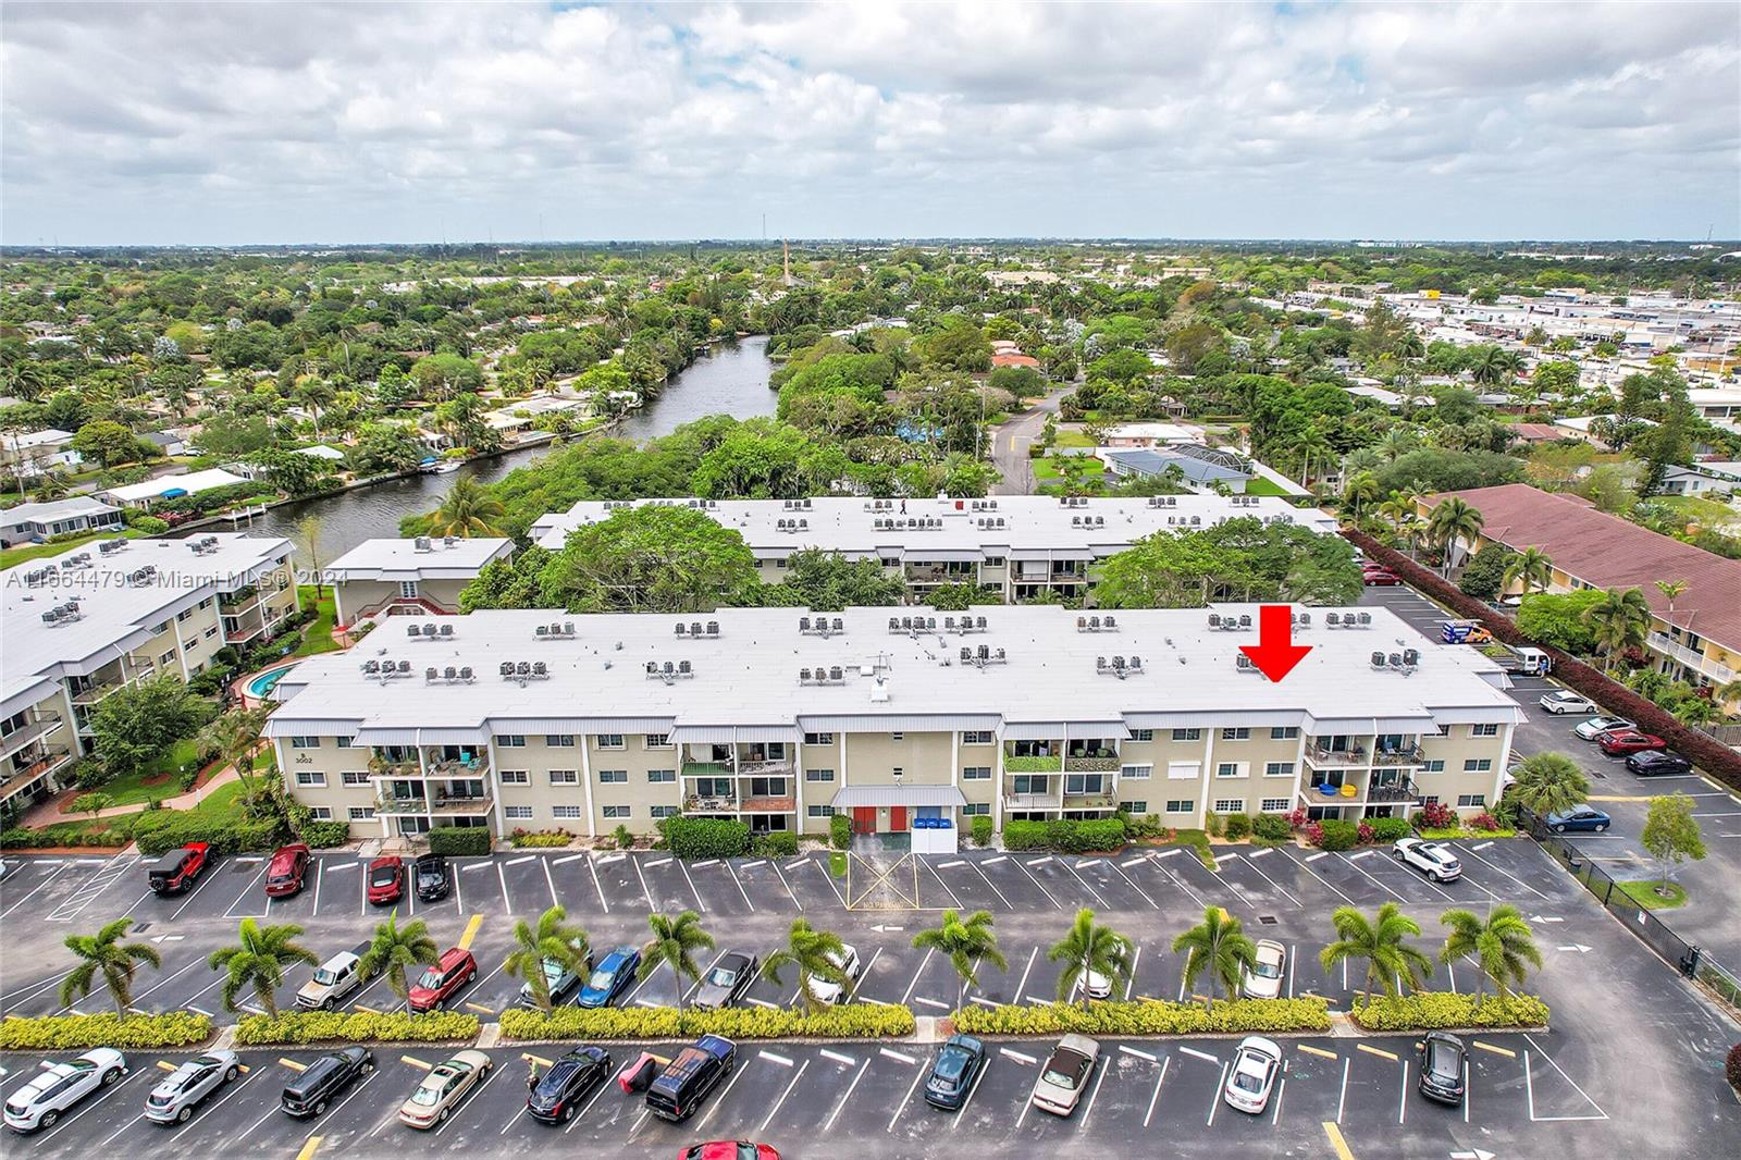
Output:
<instances>
[{"instance_id":1,"label":"winding grey canal running between trees and houses","mask_svg":"<svg viewBox=\"0 0 1741 1160\"><path fill-rule=\"evenodd\" d=\"M695 366L672 378L658 399L625 418L616 435L637 441L669 435L703 415L736 418L773 415L778 395L768 390L771 373L768 340L761 334L731 347L714 347ZM404 516L434 510L447 488L461 477L494 482L515 467L526 467L548 453L548 448L526 448L474 460L447 475L407 475L373 488L284 503L256 517L252 526L242 524L240 529L287 536L292 535L296 521L310 514L320 516L320 554L331 561L364 540L397 536Z\"/></svg>"}]
</instances>

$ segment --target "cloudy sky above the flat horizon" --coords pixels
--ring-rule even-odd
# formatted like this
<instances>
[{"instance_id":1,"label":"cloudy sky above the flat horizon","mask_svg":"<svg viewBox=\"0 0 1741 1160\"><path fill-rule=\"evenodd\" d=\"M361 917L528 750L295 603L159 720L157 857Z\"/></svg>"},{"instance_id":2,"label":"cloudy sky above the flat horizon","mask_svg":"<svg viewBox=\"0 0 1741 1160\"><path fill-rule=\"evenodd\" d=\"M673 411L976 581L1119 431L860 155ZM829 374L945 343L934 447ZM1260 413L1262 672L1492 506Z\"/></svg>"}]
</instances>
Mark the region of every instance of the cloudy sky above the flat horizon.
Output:
<instances>
[{"instance_id":1,"label":"cloudy sky above the flat horizon","mask_svg":"<svg viewBox=\"0 0 1741 1160\"><path fill-rule=\"evenodd\" d=\"M0 240L1741 237L1741 5L0 5Z\"/></svg>"}]
</instances>

